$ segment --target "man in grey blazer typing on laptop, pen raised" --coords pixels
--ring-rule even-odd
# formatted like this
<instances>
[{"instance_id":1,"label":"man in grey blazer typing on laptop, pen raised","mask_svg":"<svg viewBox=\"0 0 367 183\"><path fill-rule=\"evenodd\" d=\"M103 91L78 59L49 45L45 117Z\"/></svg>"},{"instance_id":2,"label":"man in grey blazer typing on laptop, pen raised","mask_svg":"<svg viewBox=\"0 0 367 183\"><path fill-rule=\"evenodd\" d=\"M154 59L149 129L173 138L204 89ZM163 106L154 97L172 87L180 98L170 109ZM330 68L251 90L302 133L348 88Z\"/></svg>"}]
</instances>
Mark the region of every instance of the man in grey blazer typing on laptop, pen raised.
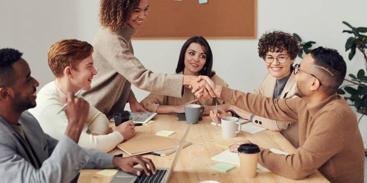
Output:
<instances>
[{"instance_id":1,"label":"man in grey blazer typing on laptop, pen raised","mask_svg":"<svg viewBox=\"0 0 367 183\"><path fill-rule=\"evenodd\" d=\"M89 104L66 96L68 124L60 141L44 133L38 121L26 111L36 106L37 80L28 63L15 49L0 49L0 177L2 182L70 182L81 168L119 167L140 174L133 165L152 161L141 156L120 157L77 143L88 116ZM55 111L57 112L57 111ZM76 180L76 179L74 179Z\"/></svg>"}]
</instances>

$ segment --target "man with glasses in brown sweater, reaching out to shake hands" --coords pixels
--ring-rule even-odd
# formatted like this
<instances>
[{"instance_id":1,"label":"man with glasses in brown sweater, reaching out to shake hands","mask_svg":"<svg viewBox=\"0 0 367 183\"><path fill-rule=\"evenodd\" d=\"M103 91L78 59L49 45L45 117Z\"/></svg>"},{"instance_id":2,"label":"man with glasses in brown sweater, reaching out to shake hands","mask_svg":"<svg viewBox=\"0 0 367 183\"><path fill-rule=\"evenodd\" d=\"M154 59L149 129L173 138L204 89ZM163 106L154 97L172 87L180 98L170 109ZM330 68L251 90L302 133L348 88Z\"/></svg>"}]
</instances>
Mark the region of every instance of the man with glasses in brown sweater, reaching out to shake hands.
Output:
<instances>
[{"instance_id":1,"label":"man with glasses in brown sweater, reaching out to shake hands","mask_svg":"<svg viewBox=\"0 0 367 183\"><path fill-rule=\"evenodd\" d=\"M299 122L300 147L296 152L281 155L261 148L261 165L293 179L319 170L331 182L361 183L364 153L356 115L336 94L345 73L345 62L337 51L319 47L295 66L295 94L299 97L272 99L210 84L221 100L255 115ZM196 95L200 97L200 93L201 90ZM249 141L236 142L231 151L242 143Z\"/></svg>"}]
</instances>

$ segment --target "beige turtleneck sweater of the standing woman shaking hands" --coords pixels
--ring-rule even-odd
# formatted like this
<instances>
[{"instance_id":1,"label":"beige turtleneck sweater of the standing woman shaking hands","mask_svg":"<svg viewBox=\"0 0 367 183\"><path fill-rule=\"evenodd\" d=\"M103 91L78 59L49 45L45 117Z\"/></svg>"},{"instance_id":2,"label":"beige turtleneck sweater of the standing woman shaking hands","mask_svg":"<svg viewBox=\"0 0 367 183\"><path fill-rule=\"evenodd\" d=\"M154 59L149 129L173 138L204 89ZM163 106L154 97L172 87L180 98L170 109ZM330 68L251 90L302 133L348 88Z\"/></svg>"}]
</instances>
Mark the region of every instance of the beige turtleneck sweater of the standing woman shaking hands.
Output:
<instances>
[{"instance_id":1,"label":"beige turtleneck sweater of the standing woman shaking hands","mask_svg":"<svg viewBox=\"0 0 367 183\"><path fill-rule=\"evenodd\" d=\"M83 96L104 114L125 108L133 95L131 84L153 93L182 97L182 75L153 73L134 56L131 38L135 33L127 24L119 34L102 27L95 36L93 59L98 73Z\"/></svg>"}]
</instances>

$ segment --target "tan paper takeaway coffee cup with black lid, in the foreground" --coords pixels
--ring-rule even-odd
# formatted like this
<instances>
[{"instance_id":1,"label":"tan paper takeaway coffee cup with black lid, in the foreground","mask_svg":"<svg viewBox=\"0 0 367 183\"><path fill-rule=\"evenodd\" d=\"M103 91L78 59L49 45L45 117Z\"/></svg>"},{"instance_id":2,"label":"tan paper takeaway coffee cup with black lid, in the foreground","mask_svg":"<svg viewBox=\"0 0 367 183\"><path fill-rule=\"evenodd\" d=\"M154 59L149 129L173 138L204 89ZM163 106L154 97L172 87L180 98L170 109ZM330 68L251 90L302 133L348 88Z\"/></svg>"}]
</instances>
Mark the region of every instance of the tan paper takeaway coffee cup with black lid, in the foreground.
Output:
<instances>
[{"instance_id":1,"label":"tan paper takeaway coffee cup with black lid, in the foreground","mask_svg":"<svg viewBox=\"0 0 367 183\"><path fill-rule=\"evenodd\" d=\"M260 148L256 144L245 143L240 145L237 151L240 156L241 174L246 178L255 177Z\"/></svg>"}]
</instances>

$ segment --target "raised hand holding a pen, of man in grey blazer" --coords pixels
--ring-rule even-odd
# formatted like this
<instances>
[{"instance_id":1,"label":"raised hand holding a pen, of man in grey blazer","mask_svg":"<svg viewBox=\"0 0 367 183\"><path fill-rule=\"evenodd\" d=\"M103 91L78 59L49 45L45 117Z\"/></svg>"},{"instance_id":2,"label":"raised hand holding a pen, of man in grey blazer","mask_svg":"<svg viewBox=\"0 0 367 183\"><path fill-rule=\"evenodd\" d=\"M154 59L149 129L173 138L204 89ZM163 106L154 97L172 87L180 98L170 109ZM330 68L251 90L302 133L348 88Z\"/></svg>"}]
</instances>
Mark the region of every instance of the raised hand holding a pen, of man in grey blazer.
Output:
<instances>
[{"instance_id":1,"label":"raised hand holding a pen, of man in grey blazer","mask_svg":"<svg viewBox=\"0 0 367 183\"><path fill-rule=\"evenodd\" d=\"M68 120L65 135L78 143L81 130L88 116L89 104L82 98L74 98L72 92L67 93L65 102L67 103L65 114Z\"/></svg>"}]
</instances>

